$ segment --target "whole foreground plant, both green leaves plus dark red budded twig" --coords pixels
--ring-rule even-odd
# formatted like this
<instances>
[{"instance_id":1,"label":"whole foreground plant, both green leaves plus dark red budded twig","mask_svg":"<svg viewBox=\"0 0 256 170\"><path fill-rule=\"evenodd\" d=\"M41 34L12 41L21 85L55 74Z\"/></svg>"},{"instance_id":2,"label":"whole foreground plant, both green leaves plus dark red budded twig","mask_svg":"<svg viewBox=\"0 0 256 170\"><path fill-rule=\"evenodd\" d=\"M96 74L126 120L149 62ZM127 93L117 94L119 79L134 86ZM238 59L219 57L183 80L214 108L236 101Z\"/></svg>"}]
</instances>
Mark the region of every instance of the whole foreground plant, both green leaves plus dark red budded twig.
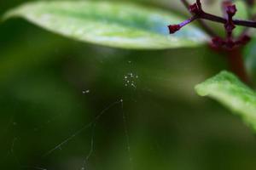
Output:
<instances>
[{"instance_id":1,"label":"whole foreground plant, both green leaves plus dark red budded twig","mask_svg":"<svg viewBox=\"0 0 256 170\"><path fill-rule=\"evenodd\" d=\"M209 44L211 47L209 50L227 56L231 71L243 82L232 73L223 71L216 77L197 85L196 92L217 99L231 111L239 114L256 130L256 94L246 85L253 84L255 65L251 65L246 70L244 59L251 59L252 56L242 56L243 46L253 37L248 27L256 27L256 23L233 19L236 18L236 6L231 1L224 2L226 16L224 18L205 13L199 0L191 6L187 1L182 2L193 16L179 25L177 23L182 20L180 17L161 9L146 8L132 3L92 1L26 3L10 10L3 19L23 17L62 36L113 48L196 48ZM247 7L248 15L253 20L254 9L249 8L253 7L253 1L238 1L236 4L238 11L239 8ZM194 20L199 20L201 27L187 26ZM203 20L224 24L226 38L221 37L219 32L212 31ZM180 30L183 26L186 27ZM236 26L246 26L246 28L241 29ZM172 33L171 36L169 32ZM247 54L250 54L249 50L251 48L247 48Z\"/></svg>"}]
</instances>

